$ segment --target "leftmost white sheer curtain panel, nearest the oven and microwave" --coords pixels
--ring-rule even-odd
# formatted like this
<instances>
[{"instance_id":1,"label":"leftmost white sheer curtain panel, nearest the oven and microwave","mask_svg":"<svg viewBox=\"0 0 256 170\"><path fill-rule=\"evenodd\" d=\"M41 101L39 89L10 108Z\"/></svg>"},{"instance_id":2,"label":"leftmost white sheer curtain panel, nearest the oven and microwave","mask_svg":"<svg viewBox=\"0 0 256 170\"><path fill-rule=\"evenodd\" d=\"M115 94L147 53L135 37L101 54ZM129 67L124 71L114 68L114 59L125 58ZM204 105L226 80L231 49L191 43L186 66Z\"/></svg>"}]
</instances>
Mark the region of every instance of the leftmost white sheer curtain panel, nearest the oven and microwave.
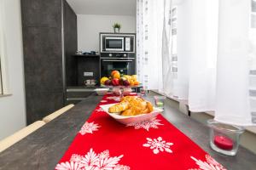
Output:
<instances>
[{"instance_id":1,"label":"leftmost white sheer curtain panel, nearest the oven and microwave","mask_svg":"<svg viewBox=\"0 0 256 170\"><path fill-rule=\"evenodd\" d=\"M170 7L170 2L171 0L137 0L137 75L146 89L163 89L162 53L169 52L162 44L163 41L170 41L170 38L163 40L163 35L166 38L166 34L170 32L164 31L163 34L163 30L170 29L170 10L165 8L165 4ZM165 56L169 57L168 54ZM163 69L166 70L166 67Z\"/></svg>"}]
</instances>

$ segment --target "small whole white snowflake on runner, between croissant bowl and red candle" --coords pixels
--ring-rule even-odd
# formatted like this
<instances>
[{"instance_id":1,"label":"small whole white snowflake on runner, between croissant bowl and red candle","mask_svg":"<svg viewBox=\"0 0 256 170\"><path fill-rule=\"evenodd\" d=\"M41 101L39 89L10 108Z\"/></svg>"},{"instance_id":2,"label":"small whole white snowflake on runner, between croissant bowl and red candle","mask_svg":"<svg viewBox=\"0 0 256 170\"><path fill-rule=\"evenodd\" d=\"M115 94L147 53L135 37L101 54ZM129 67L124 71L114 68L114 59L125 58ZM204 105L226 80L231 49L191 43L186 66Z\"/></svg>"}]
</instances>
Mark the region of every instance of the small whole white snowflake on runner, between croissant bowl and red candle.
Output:
<instances>
[{"instance_id":1,"label":"small whole white snowflake on runner, between croissant bowl and red candle","mask_svg":"<svg viewBox=\"0 0 256 170\"><path fill-rule=\"evenodd\" d=\"M143 146L153 150L154 154L158 154L160 151L166 151L168 153L172 153L172 150L170 149L172 143L166 142L161 137L158 137L157 139L147 138L147 140L148 140L148 143L143 144Z\"/></svg>"}]
</instances>

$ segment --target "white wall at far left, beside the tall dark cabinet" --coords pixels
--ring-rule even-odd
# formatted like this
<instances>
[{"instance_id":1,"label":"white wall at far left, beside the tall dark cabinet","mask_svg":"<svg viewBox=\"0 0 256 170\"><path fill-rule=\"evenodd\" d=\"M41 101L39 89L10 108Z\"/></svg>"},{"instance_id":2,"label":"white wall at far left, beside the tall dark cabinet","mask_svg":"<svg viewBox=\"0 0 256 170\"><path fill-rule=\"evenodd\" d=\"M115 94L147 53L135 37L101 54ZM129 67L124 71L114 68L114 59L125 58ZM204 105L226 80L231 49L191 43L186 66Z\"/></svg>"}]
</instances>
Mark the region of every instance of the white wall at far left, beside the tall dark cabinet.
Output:
<instances>
[{"instance_id":1,"label":"white wall at far left, beside the tall dark cabinet","mask_svg":"<svg viewBox=\"0 0 256 170\"><path fill-rule=\"evenodd\" d=\"M5 64L12 95L0 97L0 139L26 126L20 1L4 0L4 3L7 43Z\"/></svg>"}]
</instances>

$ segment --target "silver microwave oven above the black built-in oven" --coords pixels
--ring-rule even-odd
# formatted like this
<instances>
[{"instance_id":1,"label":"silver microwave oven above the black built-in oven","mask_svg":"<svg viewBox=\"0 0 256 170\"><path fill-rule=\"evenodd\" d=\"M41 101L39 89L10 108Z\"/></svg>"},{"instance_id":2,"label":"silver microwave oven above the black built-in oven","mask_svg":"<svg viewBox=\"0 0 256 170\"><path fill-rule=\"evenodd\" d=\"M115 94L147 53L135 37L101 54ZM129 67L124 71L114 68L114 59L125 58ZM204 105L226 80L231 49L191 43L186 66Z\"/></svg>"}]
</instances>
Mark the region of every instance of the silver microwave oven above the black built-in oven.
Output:
<instances>
[{"instance_id":1,"label":"silver microwave oven above the black built-in oven","mask_svg":"<svg viewBox=\"0 0 256 170\"><path fill-rule=\"evenodd\" d=\"M135 54L135 38L134 33L100 33L100 51L101 53Z\"/></svg>"}]
</instances>

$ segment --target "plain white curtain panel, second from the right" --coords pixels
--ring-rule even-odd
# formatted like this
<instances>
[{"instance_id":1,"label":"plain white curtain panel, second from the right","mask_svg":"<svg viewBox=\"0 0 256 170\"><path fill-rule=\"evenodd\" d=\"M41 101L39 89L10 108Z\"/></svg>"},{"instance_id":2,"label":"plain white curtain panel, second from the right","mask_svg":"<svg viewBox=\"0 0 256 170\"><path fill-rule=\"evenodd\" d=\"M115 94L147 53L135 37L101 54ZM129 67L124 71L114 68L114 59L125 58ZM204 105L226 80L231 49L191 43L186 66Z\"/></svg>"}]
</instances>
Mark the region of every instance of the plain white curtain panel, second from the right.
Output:
<instances>
[{"instance_id":1,"label":"plain white curtain panel, second from the right","mask_svg":"<svg viewBox=\"0 0 256 170\"><path fill-rule=\"evenodd\" d=\"M193 0L190 16L189 110L214 111L218 1Z\"/></svg>"}]
</instances>

